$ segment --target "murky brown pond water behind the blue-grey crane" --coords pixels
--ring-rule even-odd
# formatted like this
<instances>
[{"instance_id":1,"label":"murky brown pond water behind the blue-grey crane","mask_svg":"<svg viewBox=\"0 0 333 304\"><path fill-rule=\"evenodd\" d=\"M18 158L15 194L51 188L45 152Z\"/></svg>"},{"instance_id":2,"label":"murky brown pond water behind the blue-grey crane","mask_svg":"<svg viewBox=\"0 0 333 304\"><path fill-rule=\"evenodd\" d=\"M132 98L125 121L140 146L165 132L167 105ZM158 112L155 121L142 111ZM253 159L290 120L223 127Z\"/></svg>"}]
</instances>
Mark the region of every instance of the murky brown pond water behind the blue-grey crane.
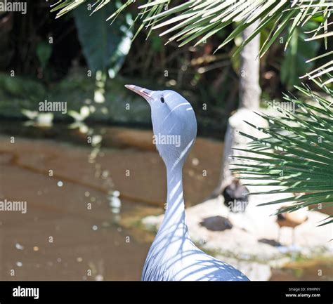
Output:
<instances>
[{"instance_id":1,"label":"murky brown pond water behind the blue-grey crane","mask_svg":"<svg viewBox=\"0 0 333 304\"><path fill-rule=\"evenodd\" d=\"M166 196L151 131L0 123L0 201L27 201L26 213L0 213L0 279L140 279L154 234L139 220L162 213ZM184 168L187 206L214 189L222 151L198 138ZM327 279L317 271L296 264L271 279Z\"/></svg>"}]
</instances>

